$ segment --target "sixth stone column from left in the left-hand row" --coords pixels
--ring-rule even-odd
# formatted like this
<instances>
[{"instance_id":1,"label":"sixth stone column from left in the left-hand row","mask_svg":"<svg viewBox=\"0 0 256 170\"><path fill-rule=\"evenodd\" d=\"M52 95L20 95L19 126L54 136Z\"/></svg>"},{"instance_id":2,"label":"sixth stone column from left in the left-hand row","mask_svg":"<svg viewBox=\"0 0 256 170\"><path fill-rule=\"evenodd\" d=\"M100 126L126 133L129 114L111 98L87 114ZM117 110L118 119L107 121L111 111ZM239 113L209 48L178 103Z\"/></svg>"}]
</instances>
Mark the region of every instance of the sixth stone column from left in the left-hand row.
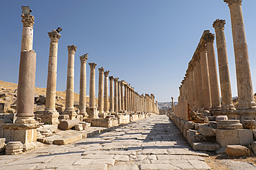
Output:
<instances>
[{"instance_id":1,"label":"sixth stone column from left in the left-hand row","mask_svg":"<svg viewBox=\"0 0 256 170\"><path fill-rule=\"evenodd\" d=\"M98 109L99 114L104 113L104 67L98 68L99 70L99 90L98 90Z\"/></svg>"}]
</instances>

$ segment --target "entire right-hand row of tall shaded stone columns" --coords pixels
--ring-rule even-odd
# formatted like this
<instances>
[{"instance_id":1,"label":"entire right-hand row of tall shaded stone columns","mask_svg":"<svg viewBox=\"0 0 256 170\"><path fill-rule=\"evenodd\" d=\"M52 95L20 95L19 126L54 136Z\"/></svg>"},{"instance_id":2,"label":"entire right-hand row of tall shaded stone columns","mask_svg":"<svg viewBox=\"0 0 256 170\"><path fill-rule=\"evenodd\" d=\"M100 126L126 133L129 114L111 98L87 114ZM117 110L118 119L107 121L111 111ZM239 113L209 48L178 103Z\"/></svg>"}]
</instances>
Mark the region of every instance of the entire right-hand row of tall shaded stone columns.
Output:
<instances>
[{"instance_id":1,"label":"entire right-hand row of tall shaded stone columns","mask_svg":"<svg viewBox=\"0 0 256 170\"><path fill-rule=\"evenodd\" d=\"M253 86L248 60L248 47L241 12L241 1L224 0L230 8L232 36L235 51L238 101L236 109L255 109ZM195 111L235 110L232 103L228 55L224 34L225 20L217 19L212 24L217 42L219 80L214 52L214 34L205 30L194 56L181 82L179 103L190 103ZM221 99L219 95L221 85ZM186 111L184 112L186 113Z\"/></svg>"}]
</instances>

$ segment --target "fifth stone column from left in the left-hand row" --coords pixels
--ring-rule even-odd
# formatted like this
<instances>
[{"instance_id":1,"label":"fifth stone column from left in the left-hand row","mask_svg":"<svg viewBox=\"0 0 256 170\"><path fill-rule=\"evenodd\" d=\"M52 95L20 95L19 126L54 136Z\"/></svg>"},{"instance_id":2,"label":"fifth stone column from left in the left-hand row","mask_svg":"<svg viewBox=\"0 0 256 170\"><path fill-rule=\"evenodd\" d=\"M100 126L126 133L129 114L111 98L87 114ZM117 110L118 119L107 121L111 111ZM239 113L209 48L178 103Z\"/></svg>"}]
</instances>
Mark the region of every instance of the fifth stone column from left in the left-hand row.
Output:
<instances>
[{"instance_id":1,"label":"fifth stone column from left in the left-hand row","mask_svg":"<svg viewBox=\"0 0 256 170\"><path fill-rule=\"evenodd\" d=\"M89 63L91 67L90 72L90 97L89 97L89 118L98 118L95 105L95 67L97 64Z\"/></svg>"}]
</instances>

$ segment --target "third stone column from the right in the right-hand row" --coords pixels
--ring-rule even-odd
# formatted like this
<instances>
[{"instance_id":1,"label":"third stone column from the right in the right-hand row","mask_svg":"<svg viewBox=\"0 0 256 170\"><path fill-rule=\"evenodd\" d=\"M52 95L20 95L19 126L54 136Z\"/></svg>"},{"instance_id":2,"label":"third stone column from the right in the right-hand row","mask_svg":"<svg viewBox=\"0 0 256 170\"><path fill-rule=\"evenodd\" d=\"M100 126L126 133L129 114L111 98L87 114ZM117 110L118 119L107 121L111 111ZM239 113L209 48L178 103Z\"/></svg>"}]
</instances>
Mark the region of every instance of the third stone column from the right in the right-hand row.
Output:
<instances>
[{"instance_id":1,"label":"third stone column from the right in the right-hand row","mask_svg":"<svg viewBox=\"0 0 256 170\"><path fill-rule=\"evenodd\" d=\"M210 76L210 94L212 100L211 110L219 110L221 108L221 98L219 96L219 81L217 76L217 65L214 52L214 34L206 34L203 39L207 47L207 59Z\"/></svg>"}]
</instances>

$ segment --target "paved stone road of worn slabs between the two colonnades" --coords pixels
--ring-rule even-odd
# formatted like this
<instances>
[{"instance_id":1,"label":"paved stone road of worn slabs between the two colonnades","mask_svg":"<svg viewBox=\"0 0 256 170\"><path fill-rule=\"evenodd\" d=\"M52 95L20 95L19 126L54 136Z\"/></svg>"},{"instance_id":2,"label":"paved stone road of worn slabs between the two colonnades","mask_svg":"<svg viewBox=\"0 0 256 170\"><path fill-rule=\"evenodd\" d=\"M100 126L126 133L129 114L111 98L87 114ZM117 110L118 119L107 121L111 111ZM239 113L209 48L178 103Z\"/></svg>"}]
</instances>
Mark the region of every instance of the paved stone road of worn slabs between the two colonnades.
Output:
<instances>
[{"instance_id":1,"label":"paved stone road of worn slabs between the two colonnades","mask_svg":"<svg viewBox=\"0 0 256 170\"><path fill-rule=\"evenodd\" d=\"M113 127L71 145L0 156L0 169L210 169L167 116Z\"/></svg>"}]
</instances>

